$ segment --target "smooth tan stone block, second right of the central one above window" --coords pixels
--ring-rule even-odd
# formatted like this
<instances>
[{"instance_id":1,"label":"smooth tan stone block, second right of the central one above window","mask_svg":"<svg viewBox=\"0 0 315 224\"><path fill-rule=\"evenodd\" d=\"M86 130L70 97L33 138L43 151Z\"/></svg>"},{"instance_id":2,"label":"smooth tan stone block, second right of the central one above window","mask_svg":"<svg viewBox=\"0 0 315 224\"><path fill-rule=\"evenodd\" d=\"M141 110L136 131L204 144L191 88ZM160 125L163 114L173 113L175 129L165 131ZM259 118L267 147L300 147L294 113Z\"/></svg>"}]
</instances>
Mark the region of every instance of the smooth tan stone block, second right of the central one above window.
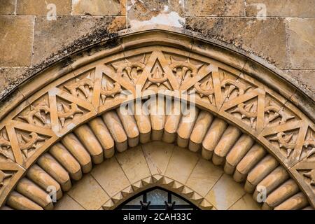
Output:
<instances>
[{"instance_id":1,"label":"smooth tan stone block, second right of the central one above window","mask_svg":"<svg viewBox=\"0 0 315 224\"><path fill-rule=\"evenodd\" d=\"M200 159L192 174L190 174L186 186L205 197L222 174L223 170L221 167L216 167L208 160Z\"/></svg>"}]
</instances>

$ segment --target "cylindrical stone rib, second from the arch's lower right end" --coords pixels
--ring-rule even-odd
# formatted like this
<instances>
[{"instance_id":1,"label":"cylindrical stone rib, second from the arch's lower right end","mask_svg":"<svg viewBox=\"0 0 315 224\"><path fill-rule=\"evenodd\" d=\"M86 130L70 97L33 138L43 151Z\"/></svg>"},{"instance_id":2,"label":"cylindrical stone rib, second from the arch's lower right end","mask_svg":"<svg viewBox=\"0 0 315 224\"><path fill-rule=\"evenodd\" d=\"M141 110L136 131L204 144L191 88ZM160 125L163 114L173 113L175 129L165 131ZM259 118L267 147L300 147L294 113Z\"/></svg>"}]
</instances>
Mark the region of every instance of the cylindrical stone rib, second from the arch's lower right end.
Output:
<instances>
[{"instance_id":1,"label":"cylindrical stone rib, second from the arch's lower right end","mask_svg":"<svg viewBox=\"0 0 315 224\"><path fill-rule=\"evenodd\" d=\"M287 200L289 197L299 192L300 188L297 186L293 179L290 179L283 183L279 188L276 188L272 193L267 195L267 199L262 204L262 209L271 210L277 207L279 204Z\"/></svg>"}]
</instances>

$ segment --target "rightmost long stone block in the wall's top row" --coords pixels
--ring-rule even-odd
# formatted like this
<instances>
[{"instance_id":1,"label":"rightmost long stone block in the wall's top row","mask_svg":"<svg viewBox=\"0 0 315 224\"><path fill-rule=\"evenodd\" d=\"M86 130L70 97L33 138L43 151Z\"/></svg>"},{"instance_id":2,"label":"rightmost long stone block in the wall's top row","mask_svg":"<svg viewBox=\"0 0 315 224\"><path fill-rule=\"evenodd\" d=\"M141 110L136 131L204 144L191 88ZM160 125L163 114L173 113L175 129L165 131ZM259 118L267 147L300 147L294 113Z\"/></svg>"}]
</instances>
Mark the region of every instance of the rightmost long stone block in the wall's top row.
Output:
<instances>
[{"instance_id":1,"label":"rightmost long stone block in the wall's top row","mask_svg":"<svg viewBox=\"0 0 315 224\"><path fill-rule=\"evenodd\" d=\"M256 16L265 4L267 16L314 17L314 0L246 0L246 16Z\"/></svg>"}]
</instances>

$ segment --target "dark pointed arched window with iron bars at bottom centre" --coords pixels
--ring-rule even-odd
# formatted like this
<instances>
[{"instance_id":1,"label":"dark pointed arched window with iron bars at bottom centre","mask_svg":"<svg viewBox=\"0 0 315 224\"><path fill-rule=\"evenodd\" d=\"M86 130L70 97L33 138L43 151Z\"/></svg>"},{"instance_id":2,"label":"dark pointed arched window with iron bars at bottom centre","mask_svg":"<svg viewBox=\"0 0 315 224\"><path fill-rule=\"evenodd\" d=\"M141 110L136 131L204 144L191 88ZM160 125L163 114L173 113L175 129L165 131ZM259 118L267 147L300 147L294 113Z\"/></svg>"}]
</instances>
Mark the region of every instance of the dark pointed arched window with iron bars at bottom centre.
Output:
<instances>
[{"instance_id":1,"label":"dark pointed arched window with iron bars at bottom centre","mask_svg":"<svg viewBox=\"0 0 315 224\"><path fill-rule=\"evenodd\" d=\"M151 188L121 204L118 210L199 210L183 197L163 188Z\"/></svg>"}]
</instances>

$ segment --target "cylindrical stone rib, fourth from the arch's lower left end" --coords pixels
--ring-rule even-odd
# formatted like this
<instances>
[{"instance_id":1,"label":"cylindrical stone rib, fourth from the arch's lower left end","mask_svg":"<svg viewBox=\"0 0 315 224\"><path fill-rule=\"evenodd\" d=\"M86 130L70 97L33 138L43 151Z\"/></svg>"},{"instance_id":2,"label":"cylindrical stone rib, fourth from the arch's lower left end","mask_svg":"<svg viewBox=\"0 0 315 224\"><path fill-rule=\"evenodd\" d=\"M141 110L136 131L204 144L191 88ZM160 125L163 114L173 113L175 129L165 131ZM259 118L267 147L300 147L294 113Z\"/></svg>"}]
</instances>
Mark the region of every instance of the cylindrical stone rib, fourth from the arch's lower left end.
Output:
<instances>
[{"instance_id":1,"label":"cylindrical stone rib, fourth from the arch's lower left end","mask_svg":"<svg viewBox=\"0 0 315 224\"><path fill-rule=\"evenodd\" d=\"M45 153L37 161L38 165L55 179L62 190L68 191L71 188L71 181L68 172L50 154Z\"/></svg>"}]
</instances>

